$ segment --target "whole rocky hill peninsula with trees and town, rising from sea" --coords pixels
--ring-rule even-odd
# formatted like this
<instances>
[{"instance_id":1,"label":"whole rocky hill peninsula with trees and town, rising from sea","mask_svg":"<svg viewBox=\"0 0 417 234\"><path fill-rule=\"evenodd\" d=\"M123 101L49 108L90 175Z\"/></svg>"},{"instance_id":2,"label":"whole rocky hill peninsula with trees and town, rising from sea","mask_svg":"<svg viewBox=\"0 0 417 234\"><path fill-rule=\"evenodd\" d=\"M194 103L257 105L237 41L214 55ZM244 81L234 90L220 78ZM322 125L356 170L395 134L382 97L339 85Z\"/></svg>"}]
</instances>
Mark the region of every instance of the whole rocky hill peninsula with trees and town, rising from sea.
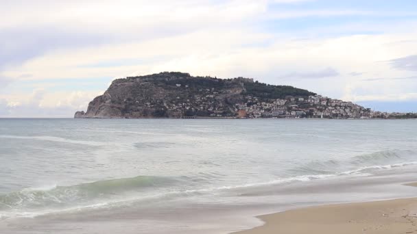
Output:
<instances>
[{"instance_id":1,"label":"whole rocky hill peninsula with trees and town, rising from sea","mask_svg":"<svg viewBox=\"0 0 417 234\"><path fill-rule=\"evenodd\" d=\"M372 118L355 103L237 77L158 73L116 79L75 118Z\"/></svg>"}]
</instances>

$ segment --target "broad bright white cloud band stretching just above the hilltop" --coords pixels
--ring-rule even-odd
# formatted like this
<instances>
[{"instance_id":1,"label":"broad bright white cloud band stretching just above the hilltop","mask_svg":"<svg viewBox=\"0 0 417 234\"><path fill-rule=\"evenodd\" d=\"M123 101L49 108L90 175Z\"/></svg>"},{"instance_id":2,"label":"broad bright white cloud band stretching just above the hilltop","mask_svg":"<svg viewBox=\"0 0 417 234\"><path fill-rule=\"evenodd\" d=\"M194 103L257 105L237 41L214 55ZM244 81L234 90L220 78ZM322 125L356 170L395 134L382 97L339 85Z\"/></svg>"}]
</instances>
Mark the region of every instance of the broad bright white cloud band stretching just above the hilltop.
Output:
<instances>
[{"instance_id":1,"label":"broad bright white cloud band stretching just above the hilltop","mask_svg":"<svg viewBox=\"0 0 417 234\"><path fill-rule=\"evenodd\" d=\"M396 70L384 62L401 57L405 51L407 54L412 53L409 43L394 43L412 38L417 39L416 34L292 40L278 38L274 34L253 34L250 30L213 29L139 43L56 51L29 60L21 70L10 71L5 75L13 77L29 73L32 76L22 78L29 80L103 75L126 77L180 70L193 75L246 76L268 83L285 82L283 84L353 101L356 99L355 94L346 94L344 90L344 87L352 83L374 77L413 75L410 71ZM273 43L268 43L270 41ZM139 62L129 66L83 66L97 61L111 64L112 61L123 60ZM289 78L297 76L311 79L278 79L288 77L289 74L292 74ZM326 86L314 79L337 75L337 79L332 79L329 81L331 85ZM401 86L401 82L396 83ZM370 82L361 82L359 85L363 88L374 86ZM379 90L385 90L384 87L390 89L392 84L381 81L381 86ZM402 91L398 89L395 92L401 94ZM361 97L363 99L364 96Z\"/></svg>"}]
</instances>

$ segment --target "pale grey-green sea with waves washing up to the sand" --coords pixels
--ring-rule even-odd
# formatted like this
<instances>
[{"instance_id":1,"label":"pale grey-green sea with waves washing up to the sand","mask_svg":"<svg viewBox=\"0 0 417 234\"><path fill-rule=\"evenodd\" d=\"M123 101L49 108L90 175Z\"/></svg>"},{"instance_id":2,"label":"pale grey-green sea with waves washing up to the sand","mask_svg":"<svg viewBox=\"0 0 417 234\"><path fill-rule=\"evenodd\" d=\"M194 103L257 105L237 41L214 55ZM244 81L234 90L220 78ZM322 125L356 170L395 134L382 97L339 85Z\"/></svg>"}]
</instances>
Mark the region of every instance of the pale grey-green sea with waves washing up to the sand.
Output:
<instances>
[{"instance_id":1,"label":"pale grey-green sea with waves washing up to the sand","mask_svg":"<svg viewBox=\"0 0 417 234\"><path fill-rule=\"evenodd\" d=\"M417 196L417 120L0 119L0 233L231 233Z\"/></svg>"}]
</instances>

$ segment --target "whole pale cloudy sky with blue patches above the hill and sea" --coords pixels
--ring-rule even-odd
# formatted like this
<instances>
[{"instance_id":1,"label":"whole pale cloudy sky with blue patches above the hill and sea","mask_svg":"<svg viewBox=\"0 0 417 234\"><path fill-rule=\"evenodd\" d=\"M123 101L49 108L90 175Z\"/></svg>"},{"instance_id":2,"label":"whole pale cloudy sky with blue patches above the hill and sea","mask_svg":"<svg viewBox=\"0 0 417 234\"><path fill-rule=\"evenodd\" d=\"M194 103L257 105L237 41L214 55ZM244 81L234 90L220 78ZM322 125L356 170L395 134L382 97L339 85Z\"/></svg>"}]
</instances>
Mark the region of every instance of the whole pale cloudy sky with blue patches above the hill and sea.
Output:
<instances>
[{"instance_id":1,"label":"whole pale cloudy sky with blue patches above the hill and sea","mask_svg":"<svg viewBox=\"0 0 417 234\"><path fill-rule=\"evenodd\" d=\"M0 0L0 117L72 117L113 79L251 77L417 112L415 0Z\"/></svg>"}]
</instances>

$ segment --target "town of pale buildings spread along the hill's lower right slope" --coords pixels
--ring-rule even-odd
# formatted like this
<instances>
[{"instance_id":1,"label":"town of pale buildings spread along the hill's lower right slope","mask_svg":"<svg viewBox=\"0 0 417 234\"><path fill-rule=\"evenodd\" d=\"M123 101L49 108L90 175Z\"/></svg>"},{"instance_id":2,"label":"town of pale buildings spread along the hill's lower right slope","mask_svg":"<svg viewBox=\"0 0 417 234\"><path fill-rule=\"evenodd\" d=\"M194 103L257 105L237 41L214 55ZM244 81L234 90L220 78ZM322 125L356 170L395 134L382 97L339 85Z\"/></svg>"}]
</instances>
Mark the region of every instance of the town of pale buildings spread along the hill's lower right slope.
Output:
<instances>
[{"instance_id":1,"label":"town of pale buildings spread along the hill's lower right slope","mask_svg":"<svg viewBox=\"0 0 417 234\"><path fill-rule=\"evenodd\" d=\"M178 88L181 84L176 84ZM185 86L188 88L188 86ZM331 99L327 96L311 95L287 96L285 99L262 100L257 96L246 95L243 102L235 104L233 109L217 100L221 96L215 88L200 89L202 94L193 96L184 102L165 101L164 106L171 112L182 113L182 118L417 118L411 113L375 112L350 101ZM181 99L177 97L177 99ZM151 107L151 103L146 103ZM234 113L236 113L234 115Z\"/></svg>"}]
</instances>

